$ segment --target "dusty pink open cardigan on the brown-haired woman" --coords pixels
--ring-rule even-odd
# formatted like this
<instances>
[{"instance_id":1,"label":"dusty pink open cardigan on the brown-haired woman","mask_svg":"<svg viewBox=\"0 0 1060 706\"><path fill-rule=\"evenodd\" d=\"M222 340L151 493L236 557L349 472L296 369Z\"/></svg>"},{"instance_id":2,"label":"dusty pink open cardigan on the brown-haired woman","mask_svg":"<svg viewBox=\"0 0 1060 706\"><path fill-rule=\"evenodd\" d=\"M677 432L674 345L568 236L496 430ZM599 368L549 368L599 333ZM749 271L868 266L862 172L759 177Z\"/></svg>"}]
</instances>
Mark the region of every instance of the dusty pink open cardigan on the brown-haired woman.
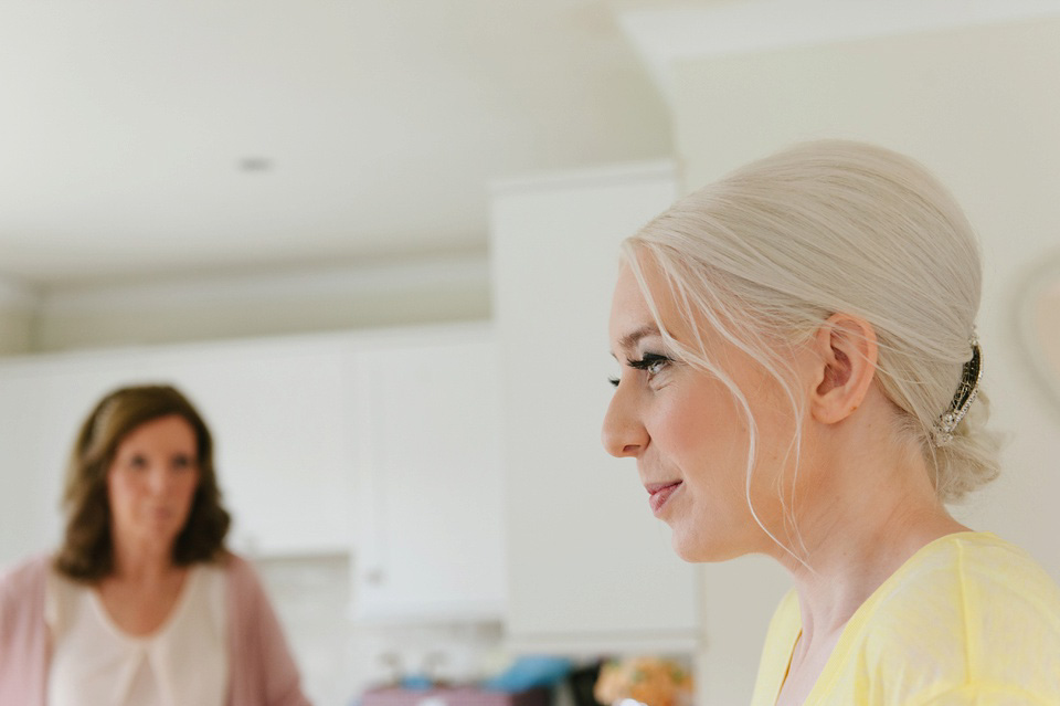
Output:
<instances>
[{"instance_id":1,"label":"dusty pink open cardigan on the brown-haired woman","mask_svg":"<svg viewBox=\"0 0 1060 706\"><path fill-rule=\"evenodd\" d=\"M51 644L44 583L51 557L0 578L0 704L46 706ZM308 706L279 621L245 560L230 555L227 706Z\"/></svg>"}]
</instances>

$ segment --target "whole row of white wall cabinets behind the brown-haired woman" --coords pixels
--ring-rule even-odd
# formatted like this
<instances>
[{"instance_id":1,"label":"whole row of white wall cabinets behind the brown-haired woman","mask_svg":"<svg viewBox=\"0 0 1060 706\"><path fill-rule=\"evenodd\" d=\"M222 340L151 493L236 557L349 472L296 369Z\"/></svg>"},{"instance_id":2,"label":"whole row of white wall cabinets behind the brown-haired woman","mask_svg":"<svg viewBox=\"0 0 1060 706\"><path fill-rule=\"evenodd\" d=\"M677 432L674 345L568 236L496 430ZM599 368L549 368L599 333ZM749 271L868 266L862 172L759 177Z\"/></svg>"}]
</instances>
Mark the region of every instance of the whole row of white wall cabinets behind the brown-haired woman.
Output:
<instances>
[{"instance_id":1,"label":"whole row of white wall cabinets behind the brown-haired woman","mask_svg":"<svg viewBox=\"0 0 1060 706\"><path fill-rule=\"evenodd\" d=\"M235 550L354 555L363 620L499 620L499 360L484 325L0 361L0 567L54 548L74 435L108 391L205 418Z\"/></svg>"}]
</instances>

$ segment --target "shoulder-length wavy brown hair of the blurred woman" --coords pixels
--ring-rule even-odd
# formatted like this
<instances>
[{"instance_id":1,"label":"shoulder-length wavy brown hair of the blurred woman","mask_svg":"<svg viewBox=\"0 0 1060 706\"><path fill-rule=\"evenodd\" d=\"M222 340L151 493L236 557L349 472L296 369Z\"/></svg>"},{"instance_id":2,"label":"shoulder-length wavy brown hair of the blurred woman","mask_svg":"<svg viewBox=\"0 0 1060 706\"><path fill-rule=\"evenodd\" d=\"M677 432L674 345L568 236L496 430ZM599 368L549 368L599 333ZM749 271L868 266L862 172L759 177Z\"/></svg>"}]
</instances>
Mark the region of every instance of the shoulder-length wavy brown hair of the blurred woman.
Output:
<instances>
[{"instance_id":1,"label":"shoulder-length wavy brown hair of the blurred woman","mask_svg":"<svg viewBox=\"0 0 1060 706\"><path fill-rule=\"evenodd\" d=\"M176 414L198 442L199 487L184 528L173 542L173 563L212 561L224 552L231 516L221 502L213 467L213 438L199 411L176 388L149 384L120 388L99 400L81 425L66 468L63 508L66 531L55 568L94 583L114 572L107 474L118 445L146 422Z\"/></svg>"}]
</instances>

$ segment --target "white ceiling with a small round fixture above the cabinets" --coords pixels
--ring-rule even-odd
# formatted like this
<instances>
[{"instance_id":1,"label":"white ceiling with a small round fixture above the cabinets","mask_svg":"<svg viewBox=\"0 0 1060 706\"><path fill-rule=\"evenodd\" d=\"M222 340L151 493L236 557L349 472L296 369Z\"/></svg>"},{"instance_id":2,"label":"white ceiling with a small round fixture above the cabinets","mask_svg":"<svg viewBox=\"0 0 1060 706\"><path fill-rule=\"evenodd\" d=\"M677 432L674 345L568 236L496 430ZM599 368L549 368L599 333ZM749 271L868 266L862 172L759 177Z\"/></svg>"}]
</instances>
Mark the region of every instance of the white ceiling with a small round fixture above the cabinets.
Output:
<instances>
[{"instance_id":1,"label":"white ceiling with a small round fixture above the cabinets","mask_svg":"<svg viewBox=\"0 0 1060 706\"><path fill-rule=\"evenodd\" d=\"M489 180L670 154L616 18L662 4L7 0L0 277L481 251Z\"/></svg>"}]
</instances>

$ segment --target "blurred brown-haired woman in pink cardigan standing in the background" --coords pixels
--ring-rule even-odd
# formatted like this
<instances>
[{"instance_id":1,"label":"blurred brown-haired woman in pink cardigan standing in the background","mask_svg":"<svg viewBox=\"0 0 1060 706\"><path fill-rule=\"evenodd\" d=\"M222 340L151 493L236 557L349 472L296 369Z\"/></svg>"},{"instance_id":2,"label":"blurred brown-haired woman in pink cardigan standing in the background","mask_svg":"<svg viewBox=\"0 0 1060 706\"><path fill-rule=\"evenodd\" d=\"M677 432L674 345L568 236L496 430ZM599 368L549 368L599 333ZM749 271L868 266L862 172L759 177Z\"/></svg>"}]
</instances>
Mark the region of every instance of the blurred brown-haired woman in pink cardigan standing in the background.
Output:
<instances>
[{"instance_id":1,"label":"blurred brown-haired woman in pink cardigan standing in the background","mask_svg":"<svg viewBox=\"0 0 1060 706\"><path fill-rule=\"evenodd\" d=\"M0 580L0 704L304 706L213 441L176 389L105 397L77 434L54 556Z\"/></svg>"}]
</instances>

